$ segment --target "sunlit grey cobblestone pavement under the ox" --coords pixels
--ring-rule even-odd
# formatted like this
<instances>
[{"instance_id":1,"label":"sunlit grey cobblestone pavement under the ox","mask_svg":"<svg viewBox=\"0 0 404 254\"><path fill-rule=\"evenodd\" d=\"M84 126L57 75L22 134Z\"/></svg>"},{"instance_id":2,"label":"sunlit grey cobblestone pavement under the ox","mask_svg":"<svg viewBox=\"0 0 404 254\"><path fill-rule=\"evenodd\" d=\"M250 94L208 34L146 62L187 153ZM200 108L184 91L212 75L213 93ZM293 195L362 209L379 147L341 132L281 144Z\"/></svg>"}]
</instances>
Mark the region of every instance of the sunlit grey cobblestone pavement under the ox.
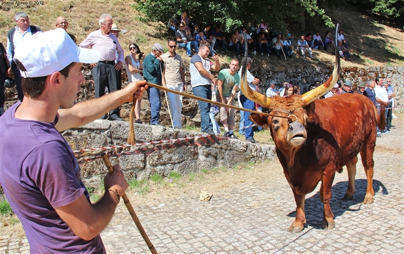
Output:
<instances>
[{"instance_id":1,"label":"sunlit grey cobblestone pavement under the ox","mask_svg":"<svg viewBox=\"0 0 404 254\"><path fill-rule=\"evenodd\" d=\"M260 181L224 186L210 201L189 194L146 197L135 211L159 253L403 253L404 114L397 115L401 119L394 120L393 134L377 139L373 204L361 203L366 176L360 162L353 200L341 200L346 170L336 175L332 230L321 229L318 186L306 196L307 227L296 234L286 231L294 220L295 202L278 160L257 165L265 171ZM108 253L149 253L123 202L101 235ZM26 239L0 236L0 253L28 250Z\"/></svg>"}]
</instances>

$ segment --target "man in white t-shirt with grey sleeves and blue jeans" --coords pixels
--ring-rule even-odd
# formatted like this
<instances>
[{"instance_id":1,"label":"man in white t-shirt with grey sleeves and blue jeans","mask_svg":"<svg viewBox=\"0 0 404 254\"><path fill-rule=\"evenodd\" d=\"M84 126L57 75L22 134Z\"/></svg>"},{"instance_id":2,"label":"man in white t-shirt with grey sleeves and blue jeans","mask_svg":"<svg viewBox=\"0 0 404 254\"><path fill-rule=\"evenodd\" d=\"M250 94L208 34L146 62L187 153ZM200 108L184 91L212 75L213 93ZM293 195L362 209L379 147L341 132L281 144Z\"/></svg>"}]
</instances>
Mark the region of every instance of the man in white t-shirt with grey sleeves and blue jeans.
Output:
<instances>
[{"instance_id":1,"label":"man in white t-shirt with grey sleeves and blue jeans","mask_svg":"<svg viewBox=\"0 0 404 254\"><path fill-rule=\"evenodd\" d=\"M216 84L217 80L212 75L211 69L219 71L219 57L213 56L215 63L209 59L211 50L208 45L200 44L199 52L193 55L189 62L189 73L191 75L191 86L193 93L202 98L212 99L212 83ZM215 134L209 112L211 111L211 104L198 100L200 109L200 130L208 134Z\"/></svg>"}]
</instances>

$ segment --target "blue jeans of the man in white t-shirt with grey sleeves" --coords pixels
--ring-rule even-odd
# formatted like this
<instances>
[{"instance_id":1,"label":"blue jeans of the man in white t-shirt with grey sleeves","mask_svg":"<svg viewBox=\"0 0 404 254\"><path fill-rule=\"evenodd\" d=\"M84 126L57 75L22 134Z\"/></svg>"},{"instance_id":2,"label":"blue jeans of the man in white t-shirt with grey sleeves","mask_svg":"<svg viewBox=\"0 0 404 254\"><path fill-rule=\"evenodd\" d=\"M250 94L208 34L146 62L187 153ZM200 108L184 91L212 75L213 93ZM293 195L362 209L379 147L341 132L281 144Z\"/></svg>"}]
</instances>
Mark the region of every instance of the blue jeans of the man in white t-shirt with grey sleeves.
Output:
<instances>
[{"instance_id":1,"label":"blue jeans of the man in white t-shirt with grey sleeves","mask_svg":"<svg viewBox=\"0 0 404 254\"><path fill-rule=\"evenodd\" d=\"M192 87L193 93L201 98L212 99L211 85L199 85ZM213 131L213 125L211 118L209 117L209 112L211 111L211 104L205 103L204 101L198 100L200 109L200 131L207 132Z\"/></svg>"}]
</instances>

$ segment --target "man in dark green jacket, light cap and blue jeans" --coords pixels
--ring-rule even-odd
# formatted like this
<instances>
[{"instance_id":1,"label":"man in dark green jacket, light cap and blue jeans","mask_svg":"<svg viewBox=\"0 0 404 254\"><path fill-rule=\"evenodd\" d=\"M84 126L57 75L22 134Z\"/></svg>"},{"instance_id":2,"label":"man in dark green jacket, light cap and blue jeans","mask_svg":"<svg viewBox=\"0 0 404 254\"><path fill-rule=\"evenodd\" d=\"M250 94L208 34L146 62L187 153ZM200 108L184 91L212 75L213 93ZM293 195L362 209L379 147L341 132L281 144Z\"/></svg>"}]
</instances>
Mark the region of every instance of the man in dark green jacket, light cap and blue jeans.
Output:
<instances>
[{"instance_id":1,"label":"man in dark green jacket, light cap and blue jeans","mask_svg":"<svg viewBox=\"0 0 404 254\"><path fill-rule=\"evenodd\" d=\"M162 71L164 70L164 62L161 55L164 48L161 44L155 43L151 47L151 53L148 54L143 61L143 77L147 82L162 85ZM151 125L163 126L160 124L160 89L156 87L147 88L147 97L150 103Z\"/></svg>"}]
</instances>

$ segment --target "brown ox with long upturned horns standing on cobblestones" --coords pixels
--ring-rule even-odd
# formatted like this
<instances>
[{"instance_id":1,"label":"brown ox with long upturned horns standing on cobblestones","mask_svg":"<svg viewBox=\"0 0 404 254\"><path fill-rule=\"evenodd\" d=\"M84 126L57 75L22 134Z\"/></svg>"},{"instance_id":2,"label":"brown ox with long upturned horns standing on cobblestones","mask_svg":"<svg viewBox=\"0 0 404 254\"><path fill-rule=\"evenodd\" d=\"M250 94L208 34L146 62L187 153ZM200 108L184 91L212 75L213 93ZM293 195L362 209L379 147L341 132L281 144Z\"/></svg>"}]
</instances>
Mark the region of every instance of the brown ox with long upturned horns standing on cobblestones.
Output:
<instances>
[{"instance_id":1,"label":"brown ox with long upturned horns standing on cobblestones","mask_svg":"<svg viewBox=\"0 0 404 254\"><path fill-rule=\"evenodd\" d=\"M361 153L368 180L363 202L373 202L376 124L384 129L381 124L385 123L384 114L379 117L372 101L358 93L315 99L331 90L337 82L338 54L335 62L332 76L314 90L304 95L268 98L249 88L244 59L240 82L243 94L268 108L273 115L251 114L251 119L270 128L277 156L296 201L296 218L288 231L300 232L304 229L305 195L312 192L320 181L320 198L324 203L323 228L334 228L330 200L335 172L341 173L342 166L346 165L348 189L343 199L351 199L355 193L358 153Z\"/></svg>"}]
</instances>

